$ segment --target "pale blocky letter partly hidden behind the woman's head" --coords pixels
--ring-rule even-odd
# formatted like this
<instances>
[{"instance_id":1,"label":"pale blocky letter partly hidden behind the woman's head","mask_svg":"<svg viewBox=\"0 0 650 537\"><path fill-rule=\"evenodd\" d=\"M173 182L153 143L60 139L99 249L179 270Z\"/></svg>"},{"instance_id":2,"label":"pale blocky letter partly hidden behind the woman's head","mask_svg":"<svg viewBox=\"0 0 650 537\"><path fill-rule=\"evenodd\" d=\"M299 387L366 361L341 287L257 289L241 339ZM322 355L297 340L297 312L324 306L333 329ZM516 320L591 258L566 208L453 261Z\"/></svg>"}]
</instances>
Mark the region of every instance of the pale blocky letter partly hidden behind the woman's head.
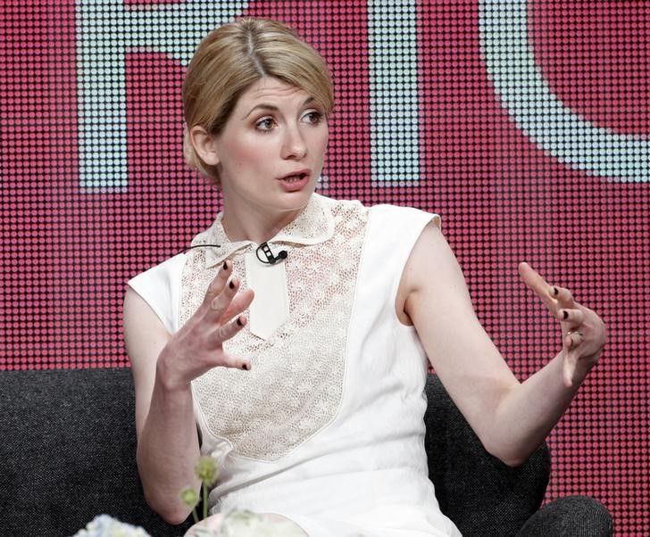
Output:
<instances>
[{"instance_id":1,"label":"pale blocky letter partly hidden behind the woman's head","mask_svg":"<svg viewBox=\"0 0 650 537\"><path fill-rule=\"evenodd\" d=\"M136 8L123 4L122 0L78 0L79 185L82 189L122 190L128 184L127 51L157 51L187 65L199 40L239 15L247 4L187 0L180 4Z\"/></svg>"}]
</instances>

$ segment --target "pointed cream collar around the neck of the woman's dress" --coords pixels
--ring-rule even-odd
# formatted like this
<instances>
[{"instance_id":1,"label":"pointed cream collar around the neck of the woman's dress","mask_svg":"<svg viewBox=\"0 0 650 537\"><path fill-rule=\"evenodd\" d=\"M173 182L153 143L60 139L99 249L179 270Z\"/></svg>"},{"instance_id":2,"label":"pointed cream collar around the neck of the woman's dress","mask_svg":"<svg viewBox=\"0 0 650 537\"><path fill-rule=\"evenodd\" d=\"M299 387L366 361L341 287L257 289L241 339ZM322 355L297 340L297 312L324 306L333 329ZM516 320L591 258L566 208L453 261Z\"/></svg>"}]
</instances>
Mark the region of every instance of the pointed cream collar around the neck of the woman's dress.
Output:
<instances>
[{"instance_id":1,"label":"pointed cream collar around the neck of the woman's dress","mask_svg":"<svg viewBox=\"0 0 650 537\"><path fill-rule=\"evenodd\" d=\"M307 206L298 217L279 230L268 244L302 244L311 245L327 241L334 235L334 216L329 207L331 201L320 194L312 194ZM206 246L200 248L204 251L205 268L209 269L227 259L232 253L243 250L249 245L255 248L258 244L253 241L237 241L231 243L226 235L221 219L223 213L220 212L217 218L203 233L196 235L192 241L192 246L201 244L219 244L219 246Z\"/></svg>"}]
</instances>

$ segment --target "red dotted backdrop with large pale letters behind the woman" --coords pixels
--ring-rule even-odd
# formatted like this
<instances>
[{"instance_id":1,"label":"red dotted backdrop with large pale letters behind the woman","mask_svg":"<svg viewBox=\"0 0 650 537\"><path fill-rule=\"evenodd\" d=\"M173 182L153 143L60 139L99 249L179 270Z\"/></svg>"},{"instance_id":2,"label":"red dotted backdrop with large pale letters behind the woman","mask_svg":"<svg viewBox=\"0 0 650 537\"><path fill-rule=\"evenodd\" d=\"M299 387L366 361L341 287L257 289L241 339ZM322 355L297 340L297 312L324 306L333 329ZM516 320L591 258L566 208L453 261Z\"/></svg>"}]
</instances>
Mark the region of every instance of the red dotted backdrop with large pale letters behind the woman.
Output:
<instances>
[{"instance_id":1,"label":"red dotted backdrop with large pale letters behind the woman","mask_svg":"<svg viewBox=\"0 0 650 537\"><path fill-rule=\"evenodd\" d=\"M560 345L520 260L602 314L547 499L594 496L617 534L647 535L648 2L4 2L0 368L128 366L125 282L220 207L181 156L187 54L241 14L329 62L321 192L440 213L517 376Z\"/></svg>"}]
</instances>

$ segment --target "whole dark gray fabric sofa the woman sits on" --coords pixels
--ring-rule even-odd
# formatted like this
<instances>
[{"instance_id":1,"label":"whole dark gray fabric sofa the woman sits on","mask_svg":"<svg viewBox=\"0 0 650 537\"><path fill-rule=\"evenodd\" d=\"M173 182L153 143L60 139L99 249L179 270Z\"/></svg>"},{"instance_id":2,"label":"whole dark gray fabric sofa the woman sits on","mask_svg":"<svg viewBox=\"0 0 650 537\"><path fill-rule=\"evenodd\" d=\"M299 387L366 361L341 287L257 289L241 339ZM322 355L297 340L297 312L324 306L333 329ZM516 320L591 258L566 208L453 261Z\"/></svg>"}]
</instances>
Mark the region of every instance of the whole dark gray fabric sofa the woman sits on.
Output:
<instances>
[{"instance_id":1,"label":"whole dark gray fabric sofa the woman sits on","mask_svg":"<svg viewBox=\"0 0 650 537\"><path fill-rule=\"evenodd\" d=\"M544 498L546 446L517 468L483 450L436 377L427 385L429 475L463 535L600 537L608 511L586 497ZM135 463L129 368L0 371L0 533L64 537L97 514L182 535L147 507Z\"/></svg>"}]
</instances>

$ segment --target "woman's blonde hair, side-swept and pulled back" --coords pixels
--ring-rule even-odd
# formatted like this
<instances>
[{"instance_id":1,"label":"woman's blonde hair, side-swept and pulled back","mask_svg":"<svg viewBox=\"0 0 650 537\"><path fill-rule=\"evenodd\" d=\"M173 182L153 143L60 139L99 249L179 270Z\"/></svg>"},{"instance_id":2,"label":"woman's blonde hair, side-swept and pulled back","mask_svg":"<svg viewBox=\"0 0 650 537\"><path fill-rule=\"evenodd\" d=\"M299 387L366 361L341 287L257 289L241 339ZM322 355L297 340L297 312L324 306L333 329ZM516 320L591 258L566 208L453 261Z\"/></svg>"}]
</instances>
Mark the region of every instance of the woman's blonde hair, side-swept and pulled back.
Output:
<instances>
[{"instance_id":1,"label":"woman's blonde hair, side-swept and pulled back","mask_svg":"<svg viewBox=\"0 0 650 537\"><path fill-rule=\"evenodd\" d=\"M198 45L183 83L183 152L190 168L217 186L217 167L206 164L196 153L189 130L200 126L219 135L239 97L264 77L303 89L325 115L334 107L325 61L293 29L278 21L244 18L213 30Z\"/></svg>"}]
</instances>

